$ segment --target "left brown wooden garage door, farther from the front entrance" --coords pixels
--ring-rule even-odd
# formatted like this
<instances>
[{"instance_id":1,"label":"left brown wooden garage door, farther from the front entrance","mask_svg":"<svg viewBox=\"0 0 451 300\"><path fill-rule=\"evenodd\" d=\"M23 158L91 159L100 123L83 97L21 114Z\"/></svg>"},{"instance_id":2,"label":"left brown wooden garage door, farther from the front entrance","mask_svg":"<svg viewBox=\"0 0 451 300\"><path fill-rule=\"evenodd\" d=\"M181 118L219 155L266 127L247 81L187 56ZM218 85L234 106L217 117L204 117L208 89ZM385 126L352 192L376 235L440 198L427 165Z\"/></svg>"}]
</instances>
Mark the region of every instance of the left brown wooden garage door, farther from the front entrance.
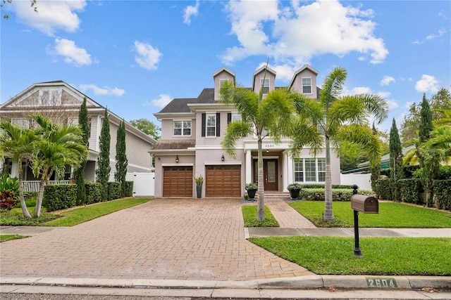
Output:
<instances>
[{"instance_id":1,"label":"left brown wooden garage door, farther from the front entrance","mask_svg":"<svg viewBox=\"0 0 451 300\"><path fill-rule=\"evenodd\" d=\"M192 166L163 167L163 197L192 197Z\"/></svg>"}]
</instances>

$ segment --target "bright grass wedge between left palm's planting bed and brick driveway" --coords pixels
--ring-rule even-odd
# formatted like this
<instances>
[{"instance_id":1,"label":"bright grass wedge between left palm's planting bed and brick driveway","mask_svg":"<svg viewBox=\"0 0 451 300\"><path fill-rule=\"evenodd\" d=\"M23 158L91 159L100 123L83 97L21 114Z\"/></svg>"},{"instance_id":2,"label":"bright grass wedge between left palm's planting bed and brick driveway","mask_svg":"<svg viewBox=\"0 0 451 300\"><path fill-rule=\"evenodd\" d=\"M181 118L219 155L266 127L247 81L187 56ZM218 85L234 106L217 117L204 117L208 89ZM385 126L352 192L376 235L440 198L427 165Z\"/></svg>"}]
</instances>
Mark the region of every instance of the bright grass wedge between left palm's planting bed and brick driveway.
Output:
<instances>
[{"instance_id":1,"label":"bright grass wedge between left palm's planting bed and brick driveway","mask_svg":"<svg viewBox=\"0 0 451 300\"><path fill-rule=\"evenodd\" d=\"M110 202L101 202L99 204L89 205L87 207L80 207L70 211L65 211L58 219L41 223L39 226L74 226L92 219L99 218L111 214L121 209L134 207L135 205L149 202L152 198L125 198L120 200L113 200Z\"/></svg>"}]
</instances>

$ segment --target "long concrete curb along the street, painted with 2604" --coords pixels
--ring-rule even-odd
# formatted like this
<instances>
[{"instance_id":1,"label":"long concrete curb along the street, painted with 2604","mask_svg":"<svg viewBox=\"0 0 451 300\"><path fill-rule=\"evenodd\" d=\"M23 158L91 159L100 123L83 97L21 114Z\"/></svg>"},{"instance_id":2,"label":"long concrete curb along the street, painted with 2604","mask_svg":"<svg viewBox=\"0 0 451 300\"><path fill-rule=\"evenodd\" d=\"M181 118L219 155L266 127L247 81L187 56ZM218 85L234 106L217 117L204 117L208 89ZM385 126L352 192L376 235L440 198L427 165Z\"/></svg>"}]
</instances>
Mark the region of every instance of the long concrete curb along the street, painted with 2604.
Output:
<instances>
[{"instance_id":1,"label":"long concrete curb along the street, painted with 2604","mask_svg":"<svg viewBox=\"0 0 451 300\"><path fill-rule=\"evenodd\" d=\"M137 287L143 289L433 289L451 290L451 276L311 275L245 281L99 278L0 278L0 285Z\"/></svg>"}]
</instances>

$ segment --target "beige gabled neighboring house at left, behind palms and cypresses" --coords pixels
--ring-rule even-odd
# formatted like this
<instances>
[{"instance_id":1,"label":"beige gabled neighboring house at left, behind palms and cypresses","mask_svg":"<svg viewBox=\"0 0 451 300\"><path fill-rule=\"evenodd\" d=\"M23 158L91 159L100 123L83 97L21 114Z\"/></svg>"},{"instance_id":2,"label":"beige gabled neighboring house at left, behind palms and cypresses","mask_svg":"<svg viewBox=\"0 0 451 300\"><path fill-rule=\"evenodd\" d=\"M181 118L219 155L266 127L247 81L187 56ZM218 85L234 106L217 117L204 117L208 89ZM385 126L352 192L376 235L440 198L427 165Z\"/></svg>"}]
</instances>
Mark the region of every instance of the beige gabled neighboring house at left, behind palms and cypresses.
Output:
<instances>
[{"instance_id":1,"label":"beige gabled neighboring house at left, behind palms and cypresses","mask_svg":"<svg viewBox=\"0 0 451 300\"><path fill-rule=\"evenodd\" d=\"M64 81L51 81L32 84L24 91L14 96L6 103L0 105L0 119L10 120L14 124L26 128L32 128L33 121L30 117L32 112L39 112L49 117L53 122L60 124L78 124L78 112L83 99L87 100L88 122L89 122L89 158L85 168L85 179L95 181L95 170L97 169L97 158L99 157L99 136L101 123L104 119L105 107L99 105L88 96L73 88ZM110 123L110 181L114 181L116 171L116 133L118 125L122 121L121 117L109 112ZM152 157L147 151L156 143L154 138L136 129L128 122L125 122L125 145L128 159L129 173L151 172ZM18 174L18 164L12 163L6 157L4 168L12 176ZM0 166L1 169L1 166ZM68 180L72 176L70 167L66 169L64 176ZM32 172L24 169L24 180L35 181ZM51 180L55 180L54 176Z\"/></svg>"}]
</instances>

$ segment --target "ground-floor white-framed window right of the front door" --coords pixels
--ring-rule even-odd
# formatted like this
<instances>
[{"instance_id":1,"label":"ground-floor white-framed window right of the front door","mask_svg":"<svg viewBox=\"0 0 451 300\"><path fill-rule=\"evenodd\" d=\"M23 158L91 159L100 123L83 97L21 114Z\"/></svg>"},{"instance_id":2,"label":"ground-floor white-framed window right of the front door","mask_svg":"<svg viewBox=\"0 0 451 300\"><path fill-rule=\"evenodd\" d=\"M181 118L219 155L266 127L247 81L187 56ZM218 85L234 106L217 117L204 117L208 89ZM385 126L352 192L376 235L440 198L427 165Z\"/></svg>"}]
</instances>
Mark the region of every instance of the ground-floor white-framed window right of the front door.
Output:
<instances>
[{"instance_id":1,"label":"ground-floor white-framed window right of the front door","mask_svg":"<svg viewBox=\"0 0 451 300\"><path fill-rule=\"evenodd\" d=\"M326 181L326 159L325 158L298 158L295 159L295 182L318 182Z\"/></svg>"}]
</instances>

